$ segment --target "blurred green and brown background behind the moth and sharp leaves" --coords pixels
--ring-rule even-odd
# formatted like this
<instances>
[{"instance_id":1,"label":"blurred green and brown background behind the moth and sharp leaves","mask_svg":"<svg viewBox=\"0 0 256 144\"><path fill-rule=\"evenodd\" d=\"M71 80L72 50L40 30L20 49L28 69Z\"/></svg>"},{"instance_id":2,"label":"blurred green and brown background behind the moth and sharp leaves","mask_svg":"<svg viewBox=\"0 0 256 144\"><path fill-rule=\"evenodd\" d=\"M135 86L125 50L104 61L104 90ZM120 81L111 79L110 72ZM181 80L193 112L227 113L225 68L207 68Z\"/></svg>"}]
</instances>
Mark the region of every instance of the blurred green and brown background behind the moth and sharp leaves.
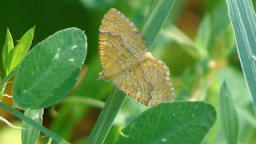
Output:
<instances>
[{"instance_id":1,"label":"blurred green and brown background behind the moth and sharp leaves","mask_svg":"<svg viewBox=\"0 0 256 144\"><path fill-rule=\"evenodd\" d=\"M57 105L45 110L43 126L53 130L72 143L84 143L90 135L102 102L106 101L112 84L97 81L102 70L98 58L98 28L103 15L111 7L120 10L140 29L152 0L44 0L0 1L0 51L10 29L14 44L31 27L36 26L32 47L58 30L78 27L88 38L88 53L78 85ZM254 2L254 1L253 1ZM194 54L194 48L201 54ZM174 85L174 100L203 100L218 110L218 94L225 79L234 96L240 122L239 142L255 141L256 121L251 106L250 93L242 75L234 34L230 26L226 3L223 0L177 0L163 26L151 53L170 67ZM2 63L2 55L0 55ZM0 76L5 76L2 64ZM12 83L6 87L11 94ZM10 98L3 102L11 105ZM127 98L122 110L106 138L113 143L119 128L125 126L146 106ZM5 110L0 115L18 126L21 121ZM0 122L0 143L21 143L20 130ZM10 140L17 139L17 142ZM47 138L38 138L44 143ZM219 121L210 130L204 143L226 143Z\"/></svg>"}]
</instances>

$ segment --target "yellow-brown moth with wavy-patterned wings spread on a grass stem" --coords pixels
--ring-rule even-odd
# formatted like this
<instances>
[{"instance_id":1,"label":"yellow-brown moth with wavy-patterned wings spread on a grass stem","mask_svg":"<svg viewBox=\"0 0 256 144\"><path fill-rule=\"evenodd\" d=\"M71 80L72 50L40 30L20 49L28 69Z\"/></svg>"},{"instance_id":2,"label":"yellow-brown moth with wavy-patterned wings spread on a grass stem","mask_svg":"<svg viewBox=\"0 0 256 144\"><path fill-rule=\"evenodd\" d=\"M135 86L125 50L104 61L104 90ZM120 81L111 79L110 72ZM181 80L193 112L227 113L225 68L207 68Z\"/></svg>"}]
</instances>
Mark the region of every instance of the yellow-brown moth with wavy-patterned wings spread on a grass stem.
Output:
<instances>
[{"instance_id":1,"label":"yellow-brown moth with wavy-patterned wings spread on a grass stem","mask_svg":"<svg viewBox=\"0 0 256 144\"><path fill-rule=\"evenodd\" d=\"M99 56L105 79L146 106L172 101L166 64L146 50L141 33L120 11L110 9L99 28Z\"/></svg>"}]
</instances>

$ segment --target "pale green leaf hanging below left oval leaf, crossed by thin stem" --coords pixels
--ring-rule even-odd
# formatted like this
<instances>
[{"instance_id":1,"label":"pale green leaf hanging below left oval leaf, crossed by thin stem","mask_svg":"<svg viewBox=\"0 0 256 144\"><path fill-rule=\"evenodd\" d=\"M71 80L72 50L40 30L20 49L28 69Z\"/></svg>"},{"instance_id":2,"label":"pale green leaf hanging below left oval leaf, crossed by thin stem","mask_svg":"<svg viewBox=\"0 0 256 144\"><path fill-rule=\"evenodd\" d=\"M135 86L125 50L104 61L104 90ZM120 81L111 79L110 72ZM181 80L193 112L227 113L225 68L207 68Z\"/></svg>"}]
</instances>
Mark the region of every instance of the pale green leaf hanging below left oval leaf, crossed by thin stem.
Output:
<instances>
[{"instance_id":1,"label":"pale green leaf hanging below left oval leaf, crossed by thin stem","mask_svg":"<svg viewBox=\"0 0 256 144\"><path fill-rule=\"evenodd\" d=\"M34 120L34 122L37 122L38 125L42 126L42 114L43 109L38 110L25 110L24 115L26 115L28 118L31 118ZM38 135L40 133L40 130L35 128L34 126L31 126L30 124L22 121L22 127L25 129L22 129L22 143L35 143Z\"/></svg>"}]
</instances>

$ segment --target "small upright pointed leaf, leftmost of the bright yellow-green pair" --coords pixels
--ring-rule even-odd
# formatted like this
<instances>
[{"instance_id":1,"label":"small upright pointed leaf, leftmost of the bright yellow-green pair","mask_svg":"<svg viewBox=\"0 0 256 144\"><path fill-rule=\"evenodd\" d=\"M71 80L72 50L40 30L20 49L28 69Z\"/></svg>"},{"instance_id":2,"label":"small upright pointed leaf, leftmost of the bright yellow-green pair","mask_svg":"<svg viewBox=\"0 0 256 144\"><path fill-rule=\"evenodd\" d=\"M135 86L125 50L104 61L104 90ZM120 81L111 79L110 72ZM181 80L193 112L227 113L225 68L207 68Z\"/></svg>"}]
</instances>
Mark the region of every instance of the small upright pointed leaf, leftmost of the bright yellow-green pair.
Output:
<instances>
[{"instance_id":1,"label":"small upright pointed leaf, leftmost of the bright yellow-green pair","mask_svg":"<svg viewBox=\"0 0 256 144\"><path fill-rule=\"evenodd\" d=\"M7 29L6 43L2 48L2 63L3 63L4 69L6 70L6 74L11 62L11 58L13 57L12 55L13 52L11 52L13 49L14 49L13 38L10 34L10 30Z\"/></svg>"}]
</instances>

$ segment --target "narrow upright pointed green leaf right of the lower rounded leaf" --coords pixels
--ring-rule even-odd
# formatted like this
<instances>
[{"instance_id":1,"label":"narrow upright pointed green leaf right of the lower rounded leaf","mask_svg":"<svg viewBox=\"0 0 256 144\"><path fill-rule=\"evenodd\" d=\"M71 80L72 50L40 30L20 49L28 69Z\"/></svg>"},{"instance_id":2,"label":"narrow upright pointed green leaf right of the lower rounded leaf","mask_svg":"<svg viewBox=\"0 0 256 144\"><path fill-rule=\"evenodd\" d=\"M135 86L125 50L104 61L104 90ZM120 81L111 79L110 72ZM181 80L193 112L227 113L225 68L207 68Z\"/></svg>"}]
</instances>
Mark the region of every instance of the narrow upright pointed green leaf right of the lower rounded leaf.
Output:
<instances>
[{"instance_id":1,"label":"narrow upright pointed green leaf right of the lower rounded leaf","mask_svg":"<svg viewBox=\"0 0 256 144\"><path fill-rule=\"evenodd\" d=\"M238 143L238 113L234 107L230 89L226 85L225 81L222 83L218 101L220 106L221 125L226 136L226 141L230 144Z\"/></svg>"}]
</instances>

